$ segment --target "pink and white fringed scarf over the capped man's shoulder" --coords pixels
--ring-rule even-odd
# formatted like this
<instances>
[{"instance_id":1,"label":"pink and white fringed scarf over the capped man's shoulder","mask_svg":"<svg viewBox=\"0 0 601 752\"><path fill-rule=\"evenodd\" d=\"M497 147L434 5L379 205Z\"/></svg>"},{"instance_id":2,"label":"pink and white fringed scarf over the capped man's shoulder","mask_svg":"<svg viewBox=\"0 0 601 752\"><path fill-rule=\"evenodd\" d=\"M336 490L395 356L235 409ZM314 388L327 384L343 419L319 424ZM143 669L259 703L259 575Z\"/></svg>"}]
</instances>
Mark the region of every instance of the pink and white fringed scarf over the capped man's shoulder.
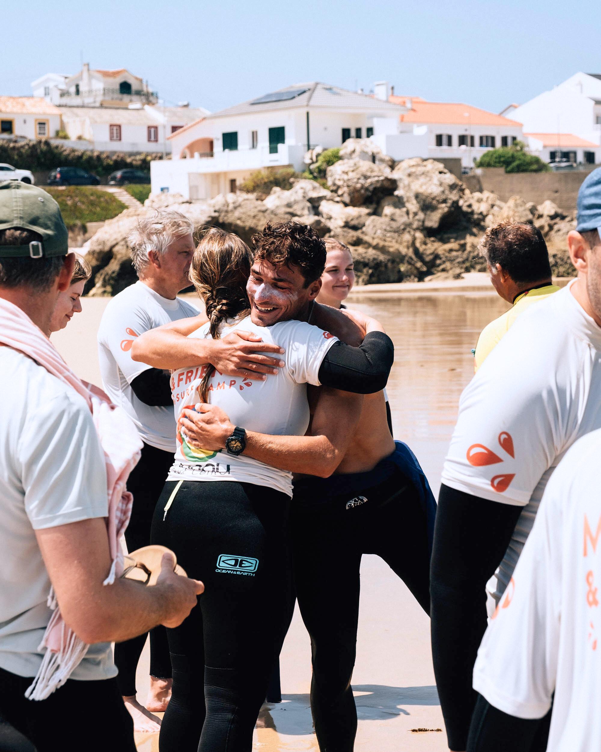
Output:
<instances>
[{"instance_id":1,"label":"pink and white fringed scarf over the capped man's shoulder","mask_svg":"<svg viewBox=\"0 0 601 752\"><path fill-rule=\"evenodd\" d=\"M29 316L3 299L0 299L0 344L19 350L73 387L86 400L92 412L107 468L107 535L112 564L103 584L113 584L123 571L119 538L128 525L133 501L131 493L125 489L125 482L137 465L142 448L134 423L125 411L110 402L104 392L83 384ZM29 699L46 699L54 690L62 687L89 647L62 620L52 589L48 606L53 608L53 614L38 648L42 650L45 647L47 650L38 675L26 692Z\"/></svg>"}]
</instances>

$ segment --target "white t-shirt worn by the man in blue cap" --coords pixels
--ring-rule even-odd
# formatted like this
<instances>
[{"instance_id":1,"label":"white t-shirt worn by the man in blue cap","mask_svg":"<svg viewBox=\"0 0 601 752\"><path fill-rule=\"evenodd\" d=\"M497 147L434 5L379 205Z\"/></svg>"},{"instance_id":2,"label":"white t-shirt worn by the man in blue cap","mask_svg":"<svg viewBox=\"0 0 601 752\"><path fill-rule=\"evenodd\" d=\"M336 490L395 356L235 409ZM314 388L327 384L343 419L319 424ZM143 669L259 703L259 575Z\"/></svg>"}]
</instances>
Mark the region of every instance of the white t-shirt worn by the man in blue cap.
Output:
<instances>
[{"instance_id":1,"label":"white t-shirt worn by the man in blue cap","mask_svg":"<svg viewBox=\"0 0 601 752\"><path fill-rule=\"evenodd\" d=\"M524 507L497 598L554 468L574 441L601 428L601 328L571 287L525 311L482 363L461 395L442 470L451 488Z\"/></svg>"}]
</instances>

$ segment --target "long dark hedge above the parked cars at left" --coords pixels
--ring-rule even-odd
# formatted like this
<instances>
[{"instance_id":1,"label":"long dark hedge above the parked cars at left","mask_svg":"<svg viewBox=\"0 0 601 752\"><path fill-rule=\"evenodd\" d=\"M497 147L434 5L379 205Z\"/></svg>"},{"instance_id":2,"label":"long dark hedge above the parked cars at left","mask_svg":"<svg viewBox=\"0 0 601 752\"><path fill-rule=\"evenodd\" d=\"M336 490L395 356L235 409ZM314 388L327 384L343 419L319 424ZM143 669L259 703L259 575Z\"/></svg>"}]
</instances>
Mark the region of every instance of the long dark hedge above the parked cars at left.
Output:
<instances>
[{"instance_id":1,"label":"long dark hedge above the parked cars at left","mask_svg":"<svg viewBox=\"0 0 601 752\"><path fill-rule=\"evenodd\" d=\"M0 141L0 162L8 162L9 165L32 172L53 170L56 167L80 167L97 175L107 175L128 167L149 171L153 159L161 159L161 156L73 149L62 144L52 144L45 138L36 141Z\"/></svg>"}]
</instances>

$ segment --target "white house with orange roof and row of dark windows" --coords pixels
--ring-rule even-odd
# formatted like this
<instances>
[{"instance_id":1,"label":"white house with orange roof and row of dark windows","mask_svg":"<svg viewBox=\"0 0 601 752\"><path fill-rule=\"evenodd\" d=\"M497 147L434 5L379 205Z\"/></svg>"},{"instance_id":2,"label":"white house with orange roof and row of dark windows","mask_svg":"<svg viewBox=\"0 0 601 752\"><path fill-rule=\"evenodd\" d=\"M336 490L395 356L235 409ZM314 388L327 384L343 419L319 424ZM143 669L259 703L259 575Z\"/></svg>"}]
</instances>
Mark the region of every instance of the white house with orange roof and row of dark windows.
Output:
<instances>
[{"instance_id":1,"label":"white house with orange roof and row of dark windows","mask_svg":"<svg viewBox=\"0 0 601 752\"><path fill-rule=\"evenodd\" d=\"M464 171L470 171L482 154L523 138L521 123L472 105L394 94L389 101L404 105L407 111L400 115L396 131L381 129L373 141L394 159L454 157L461 159Z\"/></svg>"}]
</instances>

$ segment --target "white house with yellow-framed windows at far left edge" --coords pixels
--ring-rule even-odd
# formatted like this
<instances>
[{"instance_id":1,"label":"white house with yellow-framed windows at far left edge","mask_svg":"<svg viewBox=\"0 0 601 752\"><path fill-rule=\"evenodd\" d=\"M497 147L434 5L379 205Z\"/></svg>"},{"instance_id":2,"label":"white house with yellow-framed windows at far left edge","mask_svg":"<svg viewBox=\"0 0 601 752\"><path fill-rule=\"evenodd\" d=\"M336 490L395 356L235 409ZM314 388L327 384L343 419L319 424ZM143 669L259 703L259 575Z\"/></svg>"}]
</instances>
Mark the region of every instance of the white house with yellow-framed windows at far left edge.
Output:
<instances>
[{"instance_id":1,"label":"white house with yellow-framed windows at far left edge","mask_svg":"<svg viewBox=\"0 0 601 752\"><path fill-rule=\"evenodd\" d=\"M0 135L50 138L61 128L61 111L35 96L0 96Z\"/></svg>"}]
</instances>

